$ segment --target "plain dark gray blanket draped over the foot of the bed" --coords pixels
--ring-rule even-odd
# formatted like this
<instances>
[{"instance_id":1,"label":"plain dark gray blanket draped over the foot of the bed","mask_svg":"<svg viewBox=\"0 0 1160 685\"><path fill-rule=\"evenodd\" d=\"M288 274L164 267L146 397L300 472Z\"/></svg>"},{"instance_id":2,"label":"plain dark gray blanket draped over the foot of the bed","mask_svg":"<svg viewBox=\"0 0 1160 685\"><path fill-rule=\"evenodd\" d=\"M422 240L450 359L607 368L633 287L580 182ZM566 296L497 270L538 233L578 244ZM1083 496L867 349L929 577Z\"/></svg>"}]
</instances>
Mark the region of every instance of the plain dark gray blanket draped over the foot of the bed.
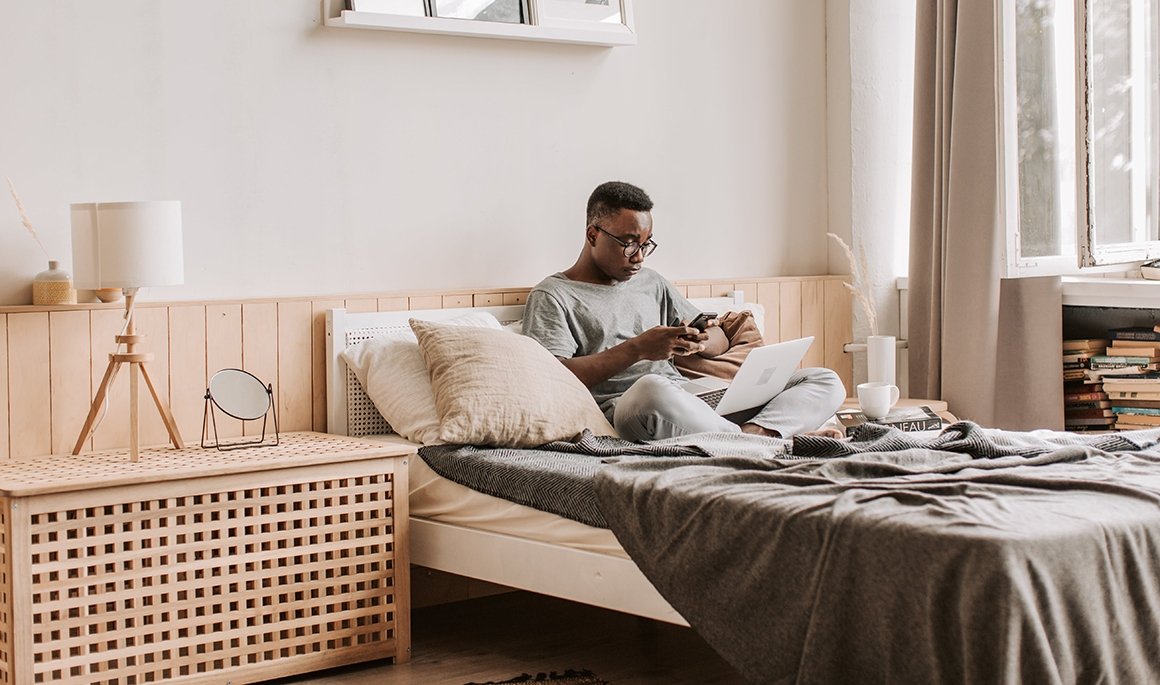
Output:
<instances>
[{"instance_id":1,"label":"plain dark gray blanket draped over the foot of the bed","mask_svg":"<svg viewBox=\"0 0 1160 685\"><path fill-rule=\"evenodd\" d=\"M623 460L595 493L754 683L1160 683L1160 433L952 428Z\"/></svg>"}]
</instances>

